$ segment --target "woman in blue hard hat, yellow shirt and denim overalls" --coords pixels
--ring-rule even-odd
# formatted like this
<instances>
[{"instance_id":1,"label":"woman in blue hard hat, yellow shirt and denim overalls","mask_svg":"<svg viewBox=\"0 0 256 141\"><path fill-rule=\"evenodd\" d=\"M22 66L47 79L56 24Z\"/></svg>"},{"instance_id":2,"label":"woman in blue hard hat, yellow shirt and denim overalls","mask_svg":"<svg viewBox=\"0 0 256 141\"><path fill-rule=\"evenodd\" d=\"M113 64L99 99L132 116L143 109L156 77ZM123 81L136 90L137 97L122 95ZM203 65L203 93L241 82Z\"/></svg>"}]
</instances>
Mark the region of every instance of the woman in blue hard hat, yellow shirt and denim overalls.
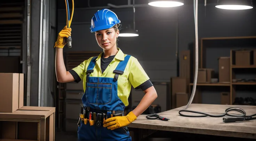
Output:
<instances>
[{"instance_id":1,"label":"woman in blue hard hat, yellow shirt and denim overalls","mask_svg":"<svg viewBox=\"0 0 256 141\"><path fill-rule=\"evenodd\" d=\"M138 60L123 54L117 47L119 26L120 20L114 12L98 10L91 20L90 29L95 32L103 53L85 60L70 71L66 71L64 65L63 47L65 38L71 36L71 28L64 27L55 43L57 81L83 81L83 112L78 124L80 141L131 141L127 125L157 98L157 92ZM141 88L145 96L133 111L124 116L131 85L136 89Z\"/></svg>"}]
</instances>

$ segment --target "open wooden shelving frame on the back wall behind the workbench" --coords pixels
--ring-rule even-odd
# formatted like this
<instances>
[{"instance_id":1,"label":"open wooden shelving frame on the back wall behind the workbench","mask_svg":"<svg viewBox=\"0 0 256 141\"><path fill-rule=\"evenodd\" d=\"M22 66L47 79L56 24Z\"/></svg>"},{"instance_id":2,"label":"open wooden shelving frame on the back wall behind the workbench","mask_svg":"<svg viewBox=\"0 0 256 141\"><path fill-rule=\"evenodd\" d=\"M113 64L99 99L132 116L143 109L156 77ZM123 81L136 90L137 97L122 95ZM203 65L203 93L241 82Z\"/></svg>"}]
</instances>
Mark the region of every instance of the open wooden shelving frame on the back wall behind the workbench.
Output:
<instances>
[{"instance_id":1,"label":"open wooden shelving frame on the back wall behind the workbench","mask_svg":"<svg viewBox=\"0 0 256 141\"><path fill-rule=\"evenodd\" d=\"M203 41L204 40L229 40L229 39L254 39L256 36L244 36L244 37L213 37L213 38L201 38L201 47L200 47L200 56L199 56L199 68L205 68L206 62L203 62L205 59L205 50L203 49ZM256 46L255 46L256 47ZM241 47L242 48L242 47ZM256 49L256 48L255 48ZM195 52L195 51L194 51ZM229 86L230 87L230 105L234 102L235 95L236 95L236 88L237 85L256 85L256 82L232 82L232 79L234 78L234 71L233 69L250 69L250 68L256 68L256 65L246 65L246 66L237 66L233 65L233 59L232 56L234 50L230 50L230 83L197 83L197 86ZM194 54L195 57L195 54ZM224 57L224 56L223 56ZM195 68L195 62L194 62L194 68ZM194 69L192 70L194 72ZM189 84L189 93L192 93L192 86L193 83ZM197 87L198 88L198 87ZM200 90L198 90L200 92ZM200 94L201 95L201 94Z\"/></svg>"}]
</instances>

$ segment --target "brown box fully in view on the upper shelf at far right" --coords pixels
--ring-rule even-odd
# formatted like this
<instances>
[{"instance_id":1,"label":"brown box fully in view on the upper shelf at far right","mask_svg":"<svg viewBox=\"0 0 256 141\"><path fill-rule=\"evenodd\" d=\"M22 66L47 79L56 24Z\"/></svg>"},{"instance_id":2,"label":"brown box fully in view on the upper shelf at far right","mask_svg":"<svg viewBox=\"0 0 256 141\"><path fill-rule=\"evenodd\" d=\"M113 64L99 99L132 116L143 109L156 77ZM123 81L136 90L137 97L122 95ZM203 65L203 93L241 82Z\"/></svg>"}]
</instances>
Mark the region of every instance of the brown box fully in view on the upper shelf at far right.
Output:
<instances>
[{"instance_id":1,"label":"brown box fully in view on the upper shelf at far right","mask_svg":"<svg viewBox=\"0 0 256 141\"><path fill-rule=\"evenodd\" d=\"M253 64L252 50L236 50L235 51L235 65L248 66Z\"/></svg>"}]
</instances>

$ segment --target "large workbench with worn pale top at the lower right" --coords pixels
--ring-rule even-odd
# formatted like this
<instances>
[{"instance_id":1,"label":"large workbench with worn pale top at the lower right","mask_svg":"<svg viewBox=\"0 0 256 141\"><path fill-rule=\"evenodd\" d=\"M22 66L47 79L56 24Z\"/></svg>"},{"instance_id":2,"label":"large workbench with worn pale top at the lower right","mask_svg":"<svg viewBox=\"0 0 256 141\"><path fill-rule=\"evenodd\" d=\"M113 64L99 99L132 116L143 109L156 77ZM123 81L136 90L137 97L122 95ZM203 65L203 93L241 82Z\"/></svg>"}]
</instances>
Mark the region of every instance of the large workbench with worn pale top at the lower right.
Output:
<instances>
[{"instance_id":1,"label":"large workbench with worn pale top at the lower right","mask_svg":"<svg viewBox=\"0 0 256 141\"><path fill-rule=\"evenodd\" d=\"M256 113L256 106L247 105L191 104L187 110L220 115L225 113L225 110L229 107L241 108L246 112L246 115ZM243 138L243 141L246 139L256 139L256 120L224 123L223 117L185 117L178 113L184 108L185 106L182 106L158 113L158 115L170 119L168 121L149 120L146 119L146 115L139 115L137 120L128 125L129 130L132 132L133 140L140 141L147 137L173 138L172 136L175 135L191 137L191 134L211 138L215 136L229 139ZM235 111L230 111L229 113L241 114ZM199 115L189 112L182 112L182 114Z\"/></svg>"}]
</instances>

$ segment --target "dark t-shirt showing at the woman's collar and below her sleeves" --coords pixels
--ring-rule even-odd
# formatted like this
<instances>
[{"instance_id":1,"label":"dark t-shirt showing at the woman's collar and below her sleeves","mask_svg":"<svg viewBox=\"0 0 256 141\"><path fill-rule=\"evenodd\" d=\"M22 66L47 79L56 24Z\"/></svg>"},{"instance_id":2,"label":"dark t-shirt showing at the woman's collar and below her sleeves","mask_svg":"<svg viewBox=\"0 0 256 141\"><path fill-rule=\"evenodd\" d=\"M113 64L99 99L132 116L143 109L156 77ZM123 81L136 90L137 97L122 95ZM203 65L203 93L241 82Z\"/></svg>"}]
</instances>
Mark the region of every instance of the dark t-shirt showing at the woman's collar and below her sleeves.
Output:
<instances>
[{"instance_id":1,"label":"dark t-shirt showing at the woman's collar and below her sleeves","mask_svg":"<svg viewBox=\"0 0 256 141\"><path fill-rule=\"evenodd\" d=\"M105 69L107 68L107 66L108 66L108 65L111 63L111 61L114 59L114 57L115 57L115 55L109 56L109 57L107 57L107 58L104 58L104 57L103 57L103 54L102 54L102 56L101 56L101 72L102 72L102 73L105 71ZM75 71L73 71L73 70L71 69L69 72L73 75L73 77L74 77L74 79L75 79L74 82L77 82L77 83L78 83L78 82L81 81L80 77L78 76L78 74L77 74ZM145 91L147 88L149 88L149 87L151 87L151 86L153 86L153 84L151 83L150 80L147 80L146 82L142 83L141 85L139 85L139 86L136 87L135 89L140 89L140 88L141 88L142 91Z\"/></svg>"}]
</instances>

